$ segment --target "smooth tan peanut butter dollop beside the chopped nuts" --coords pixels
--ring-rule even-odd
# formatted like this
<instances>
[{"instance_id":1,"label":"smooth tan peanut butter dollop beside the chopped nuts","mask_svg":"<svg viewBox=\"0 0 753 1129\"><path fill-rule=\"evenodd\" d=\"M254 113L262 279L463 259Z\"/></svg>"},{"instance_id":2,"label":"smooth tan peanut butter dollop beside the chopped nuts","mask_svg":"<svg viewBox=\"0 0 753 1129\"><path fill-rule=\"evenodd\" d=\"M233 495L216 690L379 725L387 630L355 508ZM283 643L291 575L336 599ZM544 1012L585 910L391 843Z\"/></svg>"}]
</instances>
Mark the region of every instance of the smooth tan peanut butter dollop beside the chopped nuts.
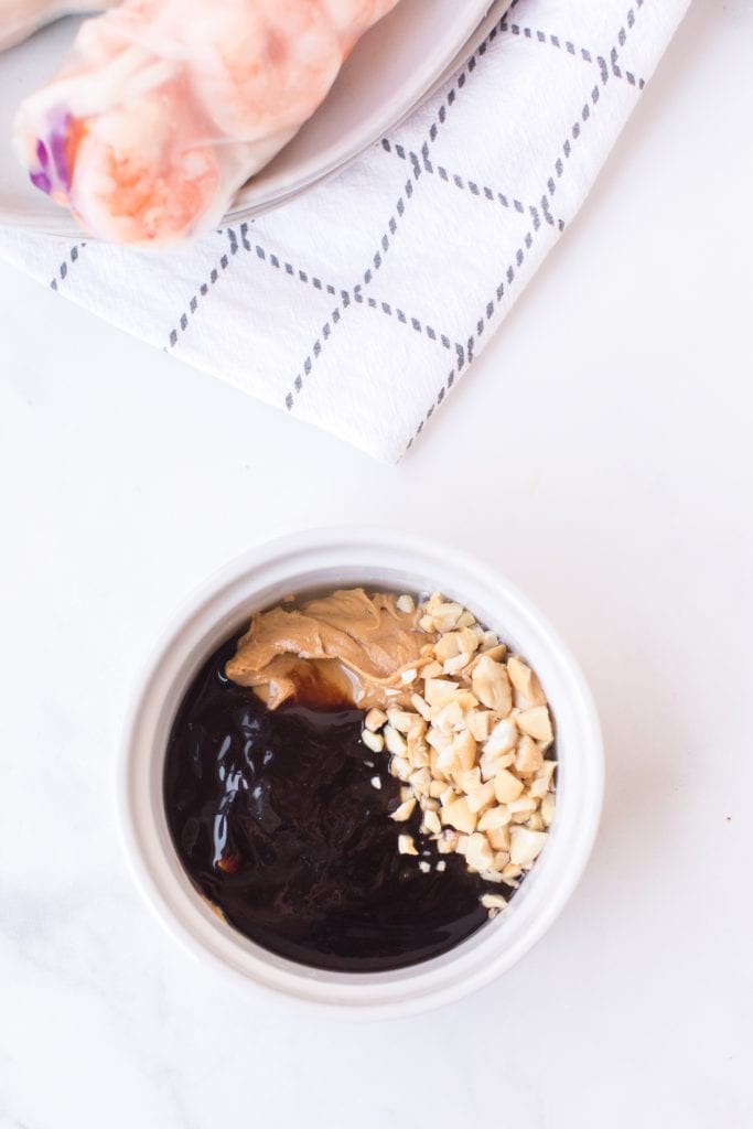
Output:
<instances>
[{"instance_id":1,"label":"smooth tan peanut butter dollop beside the chopped nuts","mask_svg":"<svg viewBox=\"0 0 753 1129\"><path fill-rule=\"evenodd\" d=\"M225 672L270 709L290 698L365 709L397 702L406 692L402 672L422 665L421 651L435 638L419 628L419 612L401 611L397 598L348 588L257 612Z\"/></svg>"}]
</instances>

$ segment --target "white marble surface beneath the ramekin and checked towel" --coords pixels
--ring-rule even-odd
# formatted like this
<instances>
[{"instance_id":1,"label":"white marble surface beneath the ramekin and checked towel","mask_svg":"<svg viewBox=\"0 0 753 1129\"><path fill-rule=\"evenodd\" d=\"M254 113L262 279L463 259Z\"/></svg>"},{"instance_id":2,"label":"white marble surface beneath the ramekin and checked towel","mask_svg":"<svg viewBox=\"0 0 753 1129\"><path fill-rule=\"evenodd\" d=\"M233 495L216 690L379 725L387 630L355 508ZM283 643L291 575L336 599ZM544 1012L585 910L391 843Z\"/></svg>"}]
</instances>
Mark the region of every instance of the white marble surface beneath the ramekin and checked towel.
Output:
<instances>
[{"instance_id":1,"label":"white marble surface beneath the ramekin and checked towel","mask_svg":"<svg viewBox=\"0 0 753 1129\"><path fill-rule=\"evenodd\" d=\"M578 222L396 470L0 266L0 1129L753 1123L752 73L750 0L697 0ZM134 890L113 803L174 604L280 519L365 515L459 523L542 605L608 769L539 947L377 1026L195 964Z\"/></svg>"}]
</instances>

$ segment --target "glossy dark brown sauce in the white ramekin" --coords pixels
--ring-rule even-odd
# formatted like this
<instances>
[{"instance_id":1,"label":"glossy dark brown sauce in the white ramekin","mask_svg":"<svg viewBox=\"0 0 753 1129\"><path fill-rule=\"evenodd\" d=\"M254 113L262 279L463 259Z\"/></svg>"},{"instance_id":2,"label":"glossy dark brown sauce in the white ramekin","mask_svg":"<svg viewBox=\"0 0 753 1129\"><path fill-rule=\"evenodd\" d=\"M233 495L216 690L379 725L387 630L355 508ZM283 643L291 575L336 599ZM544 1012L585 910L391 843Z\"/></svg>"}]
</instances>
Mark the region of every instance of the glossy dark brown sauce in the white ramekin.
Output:
<instances>
[{"instance_id":1,"label":"glossy dark brown sauce in the white ramekin","mask_svg":"<svg viewBox=\"0 0 753 1129\"><path fill-rule=\"evenodd\" d=\"M268 710L225 676L236 641L194 679L167 749L167 821L194 885L246 937L319 969L403 968L474 933L492 887L422 841L418 813L408 824L388 817L400 784L360 741L361 711ZM397 852L403 832L419 858Z\"/></svg>"}]
</instances>

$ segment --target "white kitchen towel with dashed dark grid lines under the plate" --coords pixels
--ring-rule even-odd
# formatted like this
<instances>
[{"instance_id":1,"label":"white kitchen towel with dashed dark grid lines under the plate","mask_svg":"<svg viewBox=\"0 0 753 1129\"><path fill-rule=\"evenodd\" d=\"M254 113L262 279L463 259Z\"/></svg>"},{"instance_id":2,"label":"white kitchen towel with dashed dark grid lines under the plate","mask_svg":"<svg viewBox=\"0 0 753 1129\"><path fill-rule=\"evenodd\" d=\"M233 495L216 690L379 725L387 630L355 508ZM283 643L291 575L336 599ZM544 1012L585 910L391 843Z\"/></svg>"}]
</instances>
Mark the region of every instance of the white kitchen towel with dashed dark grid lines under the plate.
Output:
<instances>
[{"instance_id":1,"label":"white kitchen towel with dashed dark grid lines under the plate","mask_svg":"<svg viewBox=\"0 0 753 1129\"><path fill-rule=\"evenodd\" d=\"M689 0L514 0L336 180L192 248L0 229L114 324L387 462L413 445L573 218Z\"/></svg>"}]
</instances>

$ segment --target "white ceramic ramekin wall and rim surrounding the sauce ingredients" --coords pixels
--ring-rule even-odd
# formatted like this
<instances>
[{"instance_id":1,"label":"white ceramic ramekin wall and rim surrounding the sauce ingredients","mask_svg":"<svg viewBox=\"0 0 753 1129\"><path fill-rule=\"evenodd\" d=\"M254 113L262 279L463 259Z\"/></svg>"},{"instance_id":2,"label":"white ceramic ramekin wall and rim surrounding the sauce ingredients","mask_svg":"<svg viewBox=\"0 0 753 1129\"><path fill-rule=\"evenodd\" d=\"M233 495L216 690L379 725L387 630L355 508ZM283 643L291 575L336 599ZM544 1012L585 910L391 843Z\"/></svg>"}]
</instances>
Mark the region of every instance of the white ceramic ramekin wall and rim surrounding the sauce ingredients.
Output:
<instances>
[{"instance_id":1,"label":"white ceramic ramekin wall and rim surrounding the sauce ingredients","mask_svg":"<svg viewBox=\"0 0 753 1129\"><path fill-rule=\"evenodd\" d=\"M222 921L194 890L173 848L163 769L181 699L209 655L251 613L289 592L342 585L440 588L467 606L539 673L557 720L558 807L550 841L508 908L454 949L395 972L334 973L269 953ZM603 752L594 703L578 667L540 613L502 576L448 545L379 530L287 535L235 560L173 620L128 721L120 809L129 858L168 929L237 978L351 1015L402 1015L457 999L509 969L572 893L596 833Z\"/></svg>"}]
</instances>

